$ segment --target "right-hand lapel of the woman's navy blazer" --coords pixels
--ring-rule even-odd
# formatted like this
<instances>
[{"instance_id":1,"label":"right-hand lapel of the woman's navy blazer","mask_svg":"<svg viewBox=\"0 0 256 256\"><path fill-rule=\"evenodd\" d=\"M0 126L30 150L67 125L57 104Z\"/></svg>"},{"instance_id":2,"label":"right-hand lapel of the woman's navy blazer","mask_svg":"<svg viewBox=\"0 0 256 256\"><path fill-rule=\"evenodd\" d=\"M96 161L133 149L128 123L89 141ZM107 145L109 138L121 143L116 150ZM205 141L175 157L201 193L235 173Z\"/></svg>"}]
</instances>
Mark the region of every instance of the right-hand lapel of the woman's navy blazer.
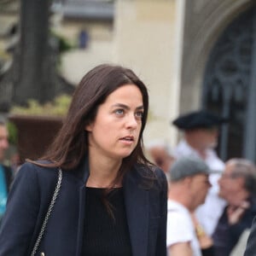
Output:
<instances>
[{"instance_id":1,"label":"right-hand lapel of the woman's navy blazer","mask_svg":"<svg viewBox=\"0 0 256 256\"><path fill-rule=\"evenodd\" d=\"M137 172L128 173L124 181L125 208L133 256L148 255L149 192L139 185Z\"/></svg>"}]
</instances>

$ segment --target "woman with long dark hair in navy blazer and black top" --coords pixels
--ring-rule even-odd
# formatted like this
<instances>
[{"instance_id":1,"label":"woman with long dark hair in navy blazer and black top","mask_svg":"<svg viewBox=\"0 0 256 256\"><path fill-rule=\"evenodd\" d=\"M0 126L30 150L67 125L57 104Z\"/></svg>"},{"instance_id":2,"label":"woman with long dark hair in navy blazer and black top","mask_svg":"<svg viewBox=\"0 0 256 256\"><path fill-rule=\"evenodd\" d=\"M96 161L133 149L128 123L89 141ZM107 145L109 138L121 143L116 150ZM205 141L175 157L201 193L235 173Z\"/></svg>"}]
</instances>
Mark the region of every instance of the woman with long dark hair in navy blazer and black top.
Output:
<instances>
[{"instance_id":1,"label":"woman with long dark hair in navy blazer and black top","mask_svg":"<svg viewBox=\"0 0 256 256\"><path fill-rule=\"evenodd\" d=\"M166 178L143 154L147 113L147 89L130 69L87 73L47 154L15 178L0 255L31 255L59 167L61 189L34 255L166 255Z\"/></svg>"}]
</instances>

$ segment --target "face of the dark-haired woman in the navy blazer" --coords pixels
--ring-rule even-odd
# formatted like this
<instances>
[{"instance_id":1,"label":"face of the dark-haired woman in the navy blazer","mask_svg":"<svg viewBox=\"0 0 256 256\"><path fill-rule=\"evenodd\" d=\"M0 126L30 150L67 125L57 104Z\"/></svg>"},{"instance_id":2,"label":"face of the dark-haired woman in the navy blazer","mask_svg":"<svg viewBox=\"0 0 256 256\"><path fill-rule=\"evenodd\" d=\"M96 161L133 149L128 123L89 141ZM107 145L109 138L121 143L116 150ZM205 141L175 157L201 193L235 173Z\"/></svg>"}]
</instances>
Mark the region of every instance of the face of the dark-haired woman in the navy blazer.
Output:
<instances>
[{"instance_id":1,"label":"face of the dark-haired woman in the navy blazer","mask_svg":"<svg viewBox=\"0 0 256 256\"><path fill-rule=\"evenodd\" d=\"M86 125L90 154L123 159L137 146L143 118L143 96L134 84L114 90Z\"/></svg>"}]
</instances>

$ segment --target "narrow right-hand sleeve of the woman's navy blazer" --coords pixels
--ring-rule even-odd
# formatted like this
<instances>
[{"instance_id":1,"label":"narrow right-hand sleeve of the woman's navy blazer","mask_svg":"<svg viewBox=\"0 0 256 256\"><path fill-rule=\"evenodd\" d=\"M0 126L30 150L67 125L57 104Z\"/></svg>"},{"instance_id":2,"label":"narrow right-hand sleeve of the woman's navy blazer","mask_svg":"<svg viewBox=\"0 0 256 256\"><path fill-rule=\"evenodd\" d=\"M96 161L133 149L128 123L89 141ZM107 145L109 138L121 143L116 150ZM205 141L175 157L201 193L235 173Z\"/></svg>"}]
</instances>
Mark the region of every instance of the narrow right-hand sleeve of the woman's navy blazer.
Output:
<instances>
[{"instance_id":1,"label":"narrow right-hand sleeve of the woman's navy blazer","mask_svg":"<svg viewBox=\"0 0 256 256\"><path fill-rule=\"evenodd\" d=\"M167 221L167 181L166 175L157 169L160 182L160 230L158 232L156 255L166 256L166 221Z\"/></svg>"}]
</instances>

